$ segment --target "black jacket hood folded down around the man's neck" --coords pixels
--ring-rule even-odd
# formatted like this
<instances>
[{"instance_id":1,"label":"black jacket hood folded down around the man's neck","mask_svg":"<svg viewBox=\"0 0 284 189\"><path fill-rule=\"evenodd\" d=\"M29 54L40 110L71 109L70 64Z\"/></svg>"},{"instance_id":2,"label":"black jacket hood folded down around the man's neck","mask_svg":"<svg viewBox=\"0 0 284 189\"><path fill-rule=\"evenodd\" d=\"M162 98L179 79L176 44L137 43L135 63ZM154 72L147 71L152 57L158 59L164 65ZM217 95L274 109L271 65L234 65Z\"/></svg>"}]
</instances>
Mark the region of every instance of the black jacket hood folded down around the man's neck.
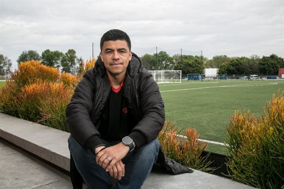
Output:
<instances>
[{"instance_id":1,"label":"black jacket hood folded down around the man's neck","mask_svg":"<svg viewBox=\"0 0 284 189\"><path fill-rule=\"evenodd\" d=\"M140 58L135 53L132 53L132 58L127 66L128 74L133 76L133 74L140 72L142 69L143 65ZM93 72L99 74L101 77L106 74L106 68L104 67L104 62L101 61L101 57L97 59Z\"/></svg>"}]
</instances>

